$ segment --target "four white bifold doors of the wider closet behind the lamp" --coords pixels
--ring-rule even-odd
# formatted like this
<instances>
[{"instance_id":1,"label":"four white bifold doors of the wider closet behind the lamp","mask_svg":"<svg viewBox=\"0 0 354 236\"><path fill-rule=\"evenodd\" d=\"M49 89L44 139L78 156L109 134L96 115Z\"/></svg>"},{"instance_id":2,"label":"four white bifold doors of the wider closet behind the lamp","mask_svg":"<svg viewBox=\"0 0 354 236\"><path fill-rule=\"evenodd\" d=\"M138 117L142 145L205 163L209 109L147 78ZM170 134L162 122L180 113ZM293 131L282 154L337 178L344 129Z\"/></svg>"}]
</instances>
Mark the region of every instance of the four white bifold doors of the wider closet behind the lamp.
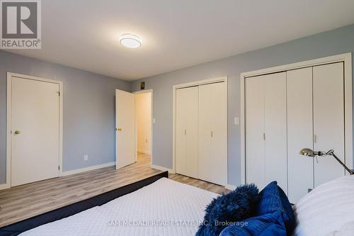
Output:
<instances>
[{"instance_id":1,"label":"four white bifold doors of the wider closet behind the lamp","mask_svg":"<svg viewBox=\"0 0 354 236\"><path fill-rule=\"evenodd\" d=\"M304 157L302 148L345 162L344 64L336 62L247 78L246 182L278 181L290 202L345 174L331 156Z\"/></svg>"}]
</instances>

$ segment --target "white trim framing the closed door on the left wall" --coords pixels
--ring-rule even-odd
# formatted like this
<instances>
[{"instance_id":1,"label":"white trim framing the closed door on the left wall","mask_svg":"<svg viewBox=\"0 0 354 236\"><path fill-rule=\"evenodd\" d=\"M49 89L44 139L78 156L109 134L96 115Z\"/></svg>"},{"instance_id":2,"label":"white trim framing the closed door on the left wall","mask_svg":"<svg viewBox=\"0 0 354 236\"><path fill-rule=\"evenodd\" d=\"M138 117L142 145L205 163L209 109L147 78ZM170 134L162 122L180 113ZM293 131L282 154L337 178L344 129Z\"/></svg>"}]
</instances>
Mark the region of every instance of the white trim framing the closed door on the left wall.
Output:
<instances>
[{"instance_id":1,"label":"white trim framing the closed door on the left wall","mask_svg":"<svg viewBox=\"0 0 354 236\"><path fill-rule=\"evenodd\" d=\"M11 100L12 100L12 77L20 77L23 79L31 79L42 82L49 82L59 84L59 176L62 176L62 149L63 149L63 84L60 81L53 79L44 79L40 77L33 77L25 74L16 74L7 72L7 101L6 101L6 184L4 189L11 187Z\"/></svg>"}]
</instances>

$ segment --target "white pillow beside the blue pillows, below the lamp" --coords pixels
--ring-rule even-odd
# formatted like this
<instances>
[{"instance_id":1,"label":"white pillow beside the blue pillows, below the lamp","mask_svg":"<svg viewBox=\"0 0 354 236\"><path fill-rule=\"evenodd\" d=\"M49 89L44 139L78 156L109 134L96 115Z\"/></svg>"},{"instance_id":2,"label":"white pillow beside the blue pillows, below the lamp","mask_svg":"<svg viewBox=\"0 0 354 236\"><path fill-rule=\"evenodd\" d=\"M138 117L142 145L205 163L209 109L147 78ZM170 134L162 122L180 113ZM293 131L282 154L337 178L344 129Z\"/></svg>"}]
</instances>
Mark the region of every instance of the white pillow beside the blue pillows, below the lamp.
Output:
<instances>
[{"instance_id":1,"label":"white pillow beside the blue pillows, below the lamp","mask_svg":"<svg viewBox=\"0 0 354 236\"><path fill-rule=\"evenodd\" d=\"M295 215L296 236L336 235L354 221L354 176L329 181L307 193L295 205Z\"/></svg>"}]
</instances>

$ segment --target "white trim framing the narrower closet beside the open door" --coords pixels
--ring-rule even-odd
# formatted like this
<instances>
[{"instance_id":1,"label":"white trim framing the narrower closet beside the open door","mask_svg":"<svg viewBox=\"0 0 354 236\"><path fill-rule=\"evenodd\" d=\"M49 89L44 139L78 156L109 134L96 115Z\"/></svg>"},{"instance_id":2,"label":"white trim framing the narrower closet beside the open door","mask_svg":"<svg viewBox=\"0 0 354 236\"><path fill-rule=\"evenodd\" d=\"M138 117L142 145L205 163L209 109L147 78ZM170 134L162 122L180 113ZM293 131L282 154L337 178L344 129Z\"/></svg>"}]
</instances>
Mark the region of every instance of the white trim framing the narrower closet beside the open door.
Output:
<instances>
[{"instance_id":1,"label":"white trim framing the narrower closet beside the open door","mask_svg":"<svg viewBox=\"0 0 354 236\"><path fill-rule=\"evenodd\" d=\"M217 83L217 82L225 82L227 85L227 76L225 77L217 77L214 79L204 79L200 80L197 82L190 82L190 83L185 83L185 84L176 84L173 85L172 89L172 96L173 96L173 101L172 101L172 172L173 174L176 173L176 89L182 89L182 88L187 88L190 86L199 86L202 84L212 84L212 83ZM227 86L228 89L228 86ZM227 106L228 107L228 106ZM229 109L227 109L229 111ZM228 112L227 112L228 113ZM228 125L227 125L228 126ZM227 175L227 182L229 181L229 176Z\"/></svg>"}]
</instances>

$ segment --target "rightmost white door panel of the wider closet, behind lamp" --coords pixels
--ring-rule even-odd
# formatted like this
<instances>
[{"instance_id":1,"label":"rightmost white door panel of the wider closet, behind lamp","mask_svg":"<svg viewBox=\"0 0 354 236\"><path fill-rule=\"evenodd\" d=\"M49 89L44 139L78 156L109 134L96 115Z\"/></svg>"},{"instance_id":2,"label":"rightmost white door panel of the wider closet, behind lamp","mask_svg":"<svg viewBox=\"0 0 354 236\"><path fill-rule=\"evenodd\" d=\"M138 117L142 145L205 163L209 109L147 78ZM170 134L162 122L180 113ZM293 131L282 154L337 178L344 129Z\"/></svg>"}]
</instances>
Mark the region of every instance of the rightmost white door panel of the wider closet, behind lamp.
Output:
<instances>
[{"instance_id":1,"label":"rightmost white door panel of the wider closet, behind lamp","mask_svg":"<svg viewBox=\"0 0 354 236\"><path fill-rule=\"evenodd\" d=\"M333 149L344 162L343 62L314 67L314 150ZM344 168L331 156L314 164L314 186L344 175Z\"/></svg>"}]
</instances>

